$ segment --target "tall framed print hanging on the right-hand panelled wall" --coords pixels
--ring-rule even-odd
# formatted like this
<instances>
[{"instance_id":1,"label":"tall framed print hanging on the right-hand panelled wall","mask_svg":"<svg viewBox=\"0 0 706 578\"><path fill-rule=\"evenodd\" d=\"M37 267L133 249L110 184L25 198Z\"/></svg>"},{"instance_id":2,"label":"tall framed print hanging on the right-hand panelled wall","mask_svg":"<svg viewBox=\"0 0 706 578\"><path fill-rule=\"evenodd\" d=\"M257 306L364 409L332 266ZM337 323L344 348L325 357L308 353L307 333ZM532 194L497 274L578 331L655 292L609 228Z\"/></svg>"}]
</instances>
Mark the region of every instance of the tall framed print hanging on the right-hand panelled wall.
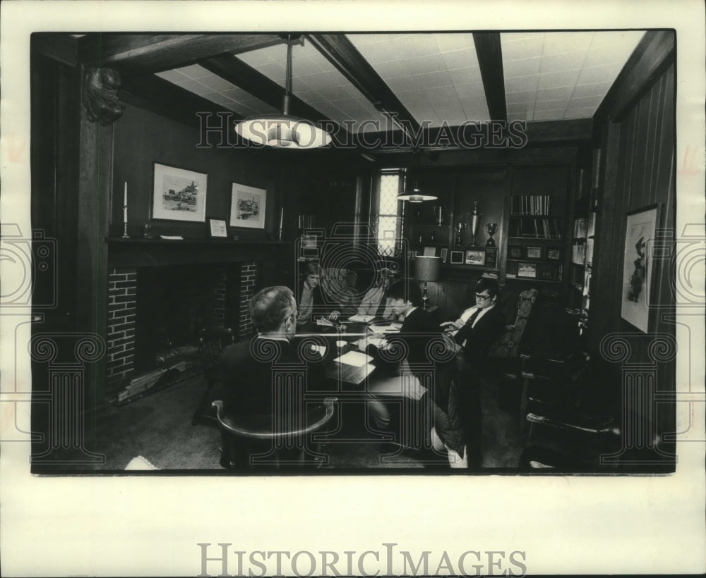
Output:
<instances>
[{"instance_id":1,"label":"tall framed print hanging on the right-hand panelled wall","mask_svg":"<svg viewBox=\"0 0 706 578\"><path fill-rule=\"evenodd\" d=\"M621 316L644 333L648 331L650 312L652 262L648 256L659 222L658 213L659 207L651 205L626 216Z\"/></svg>"}]
</instances>

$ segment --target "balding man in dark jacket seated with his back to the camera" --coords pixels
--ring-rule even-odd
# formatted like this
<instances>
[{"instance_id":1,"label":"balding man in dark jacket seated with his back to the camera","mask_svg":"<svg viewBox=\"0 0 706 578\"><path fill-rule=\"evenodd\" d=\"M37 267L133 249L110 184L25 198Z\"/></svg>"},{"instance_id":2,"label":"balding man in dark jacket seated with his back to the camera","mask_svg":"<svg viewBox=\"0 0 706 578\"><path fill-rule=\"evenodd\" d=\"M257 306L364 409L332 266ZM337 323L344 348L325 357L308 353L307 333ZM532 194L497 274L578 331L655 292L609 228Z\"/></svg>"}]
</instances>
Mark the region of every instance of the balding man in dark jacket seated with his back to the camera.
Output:
<instances>
[{"instance_id":1,"label":"balding man in dark jacket seated with his back to the camera","mask_svg":"<svg viewBox=\"0 0 706 578\"><path fill-rule=\"evenodd\" d=\"M297 407L292 421L303 423L304 392L325 388L321 356L300 355L295 343L297 303L287 287L267 287L250 300L250 314L258 335L234 343L221 354L225 414L258 426L273 424L278 396ZM317 359L318 356L318 359ZM297 376L305 376L299 380ZM294 379L287 379L295 376ZM290 406L291 407L291 406Z\"/></svg>"}]
</instances>

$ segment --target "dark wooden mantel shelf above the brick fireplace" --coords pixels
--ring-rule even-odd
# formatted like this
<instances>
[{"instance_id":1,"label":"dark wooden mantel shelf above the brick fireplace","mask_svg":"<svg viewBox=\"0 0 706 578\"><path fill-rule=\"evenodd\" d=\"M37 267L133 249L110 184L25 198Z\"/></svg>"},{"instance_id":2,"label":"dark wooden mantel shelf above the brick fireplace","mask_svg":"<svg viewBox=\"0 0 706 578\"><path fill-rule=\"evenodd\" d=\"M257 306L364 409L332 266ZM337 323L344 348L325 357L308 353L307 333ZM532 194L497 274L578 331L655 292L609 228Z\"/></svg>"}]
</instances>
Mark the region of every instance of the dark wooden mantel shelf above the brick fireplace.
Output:
<instances>
[{"instance_id":1,"label":"dark wooden mantel shelf above the brick fireplace","mask_svg":"<svg viewBox=\"0 0 706 578\"><path fill-rule=\"evenodd\" d=\"M122 239L108 237L111 267L154 267L294 258L291 242L227 239Z\"/></svg>"}]
</instances>

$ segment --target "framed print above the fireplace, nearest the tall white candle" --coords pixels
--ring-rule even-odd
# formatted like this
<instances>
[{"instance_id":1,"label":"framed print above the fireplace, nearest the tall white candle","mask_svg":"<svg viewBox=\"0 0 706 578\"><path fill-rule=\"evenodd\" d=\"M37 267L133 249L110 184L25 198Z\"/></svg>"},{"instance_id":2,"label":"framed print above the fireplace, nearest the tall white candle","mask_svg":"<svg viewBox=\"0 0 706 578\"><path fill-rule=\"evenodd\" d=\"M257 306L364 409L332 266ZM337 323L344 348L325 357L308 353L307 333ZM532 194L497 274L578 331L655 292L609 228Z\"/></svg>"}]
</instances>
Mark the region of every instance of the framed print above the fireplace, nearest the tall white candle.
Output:
<instances>
[{"instance_id":1,"label":"framed print above the fireplace, nearest the tall white candle","mask_svg":"<svg viewBox=\"0 0 706 578\"><path fill-rule=\"evenodd\" d=\"M152 219L203 223L207 178L206 173L155 163Z\"/></svg>"}]
</instances>

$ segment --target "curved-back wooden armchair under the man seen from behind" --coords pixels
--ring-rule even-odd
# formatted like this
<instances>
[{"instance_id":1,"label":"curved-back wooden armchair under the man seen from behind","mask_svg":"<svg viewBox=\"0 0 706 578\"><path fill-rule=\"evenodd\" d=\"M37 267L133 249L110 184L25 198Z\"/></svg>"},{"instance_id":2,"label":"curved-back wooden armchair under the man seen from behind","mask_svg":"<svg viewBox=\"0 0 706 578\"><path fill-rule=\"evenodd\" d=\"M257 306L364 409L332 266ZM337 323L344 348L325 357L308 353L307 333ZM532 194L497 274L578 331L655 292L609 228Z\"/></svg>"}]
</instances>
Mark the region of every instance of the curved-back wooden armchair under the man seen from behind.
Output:
<instances>
[{"instance_id":1,"label":"curved-back wooden armchair under the man seen from behind","mask_svg":"<svg viewBox=\"0 0 706 578\"><path fill-rule=\"evenodd\" d=\"M307 443L309 434L321 429L333 417L333 407L337 398L325 398L323 405L318 405L306 412L306 423L296 429L277 429L271 419L267 423L262 420L250 420L249 423L238 423L228 417L223 411L222 400L213 402L216 408L216 419L221 430L221 460L222 467L256 468L256 467L303 467L312 465L320 467L327 461L321 453L321 443L315 438L313 445ZM296 424L294 419L292 423Z\"/></svg>"}]
</instances>

